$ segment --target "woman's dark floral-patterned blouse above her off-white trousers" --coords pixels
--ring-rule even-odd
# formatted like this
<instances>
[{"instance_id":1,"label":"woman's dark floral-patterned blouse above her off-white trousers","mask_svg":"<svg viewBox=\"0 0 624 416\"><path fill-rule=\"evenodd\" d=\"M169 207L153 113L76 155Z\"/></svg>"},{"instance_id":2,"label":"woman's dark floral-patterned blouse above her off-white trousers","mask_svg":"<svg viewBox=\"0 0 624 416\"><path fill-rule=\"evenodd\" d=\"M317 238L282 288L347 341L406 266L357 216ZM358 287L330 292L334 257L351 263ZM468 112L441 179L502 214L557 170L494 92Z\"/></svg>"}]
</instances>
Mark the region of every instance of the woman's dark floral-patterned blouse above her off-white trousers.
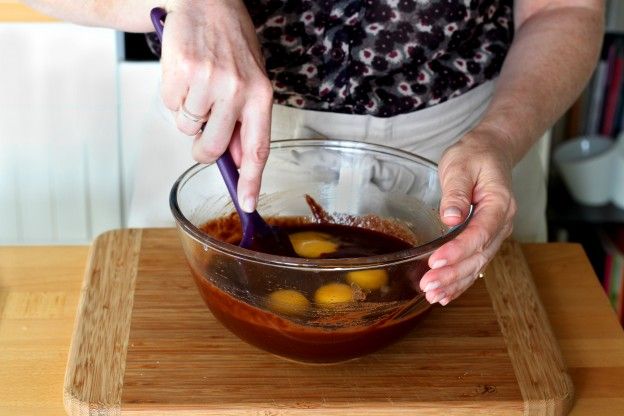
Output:
<instances>
[{"instance_id":1,"label":"woman's dark floral-patterned blouse above her off-white trousers","mask_svg":"<svg viewBox=\"0 0 624 416\"><path fill-rule=\"evenodd\" d=\"M494 78L513 0L245 0L275 102L390 117Z\"/></svg>"}]
</instances>

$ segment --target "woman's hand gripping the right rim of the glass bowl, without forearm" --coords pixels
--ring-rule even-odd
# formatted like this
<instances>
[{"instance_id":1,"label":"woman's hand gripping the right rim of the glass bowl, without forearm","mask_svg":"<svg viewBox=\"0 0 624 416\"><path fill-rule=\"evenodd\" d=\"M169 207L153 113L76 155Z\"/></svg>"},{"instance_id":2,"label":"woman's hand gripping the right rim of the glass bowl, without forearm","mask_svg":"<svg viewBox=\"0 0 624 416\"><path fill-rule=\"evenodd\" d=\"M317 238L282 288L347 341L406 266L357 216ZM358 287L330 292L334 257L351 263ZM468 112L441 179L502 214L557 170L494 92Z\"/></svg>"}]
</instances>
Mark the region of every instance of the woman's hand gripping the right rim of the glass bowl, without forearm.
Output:
<instances>
[{"instance_id":1,"label":"woman's hand gripping the right rim of the glass bowl, without forearm","mask_svg":"<svg viewBox=\"0 0 624 416\"><path fill-rule=\"evenodd\" d=\"M474 204L466 228L429 258L420 281L430 303L446 305L468 289L512 231L516 202L511 191L513 158L509 140L495 128L480 126L449 147L439 164L440 217L461 223Z\"/></svg>"}]
</instances>

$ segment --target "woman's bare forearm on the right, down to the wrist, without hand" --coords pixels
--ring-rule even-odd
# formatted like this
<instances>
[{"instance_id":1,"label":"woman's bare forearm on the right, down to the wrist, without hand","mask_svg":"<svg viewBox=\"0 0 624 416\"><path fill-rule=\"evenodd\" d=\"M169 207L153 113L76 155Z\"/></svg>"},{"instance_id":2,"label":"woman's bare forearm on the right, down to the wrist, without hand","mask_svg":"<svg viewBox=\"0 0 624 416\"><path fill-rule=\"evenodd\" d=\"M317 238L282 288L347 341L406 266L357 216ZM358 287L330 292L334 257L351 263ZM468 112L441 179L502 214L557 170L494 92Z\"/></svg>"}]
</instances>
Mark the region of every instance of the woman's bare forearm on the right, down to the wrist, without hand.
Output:
<instances>
[{"instance_id":1,"label":"woman's bare forearm on the right, down to the wrist, without hand","mask_svg":"<svg viewBox=\"0 0 624 416\"><path fill-rule=\"evenodd\" d=\"M599 6L545 9L517 27L480 124L499 132L512 164L578 97L597 61L602 35Z\"/></svg>"}]
</instances>

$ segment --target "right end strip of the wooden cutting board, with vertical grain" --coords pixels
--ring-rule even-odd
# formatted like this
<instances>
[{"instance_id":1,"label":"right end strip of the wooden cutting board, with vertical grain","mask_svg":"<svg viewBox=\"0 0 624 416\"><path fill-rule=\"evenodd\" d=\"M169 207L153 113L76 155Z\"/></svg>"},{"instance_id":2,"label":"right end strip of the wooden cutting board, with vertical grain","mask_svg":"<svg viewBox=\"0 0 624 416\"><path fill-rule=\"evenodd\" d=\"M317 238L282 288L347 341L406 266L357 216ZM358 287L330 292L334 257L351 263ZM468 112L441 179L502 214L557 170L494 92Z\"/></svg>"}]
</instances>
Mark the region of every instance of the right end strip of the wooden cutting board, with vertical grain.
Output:
<instances>
[{"instance_id":1,"label":"right end strip of the wooden cutting board, with vertical grain","mask_svg":"<svg viewBox=\"0 0 624 416\"><path fill-rule=\"evenodd\" d=\"M567 415L574 406L574 384L520 243L509 239L501 246L499 254L502 255L497 255L488 266L485 283L524 399L525 414ZM505 260L515 261L516 267L506 265L497 270L514 270L521 274L521 278L509 273L490 272L495 262ZM527 301L531 303L525 303ZM521 310L525 313L517 313ZM514 315L513 320L511 315ZM537 325L537 322L541 324ZM523 342L539 348L521 348ZM551 371L543 371L546 365ZM549 394L542 394L538 384L548 389Z\"/></svg>"}]
</instances>

